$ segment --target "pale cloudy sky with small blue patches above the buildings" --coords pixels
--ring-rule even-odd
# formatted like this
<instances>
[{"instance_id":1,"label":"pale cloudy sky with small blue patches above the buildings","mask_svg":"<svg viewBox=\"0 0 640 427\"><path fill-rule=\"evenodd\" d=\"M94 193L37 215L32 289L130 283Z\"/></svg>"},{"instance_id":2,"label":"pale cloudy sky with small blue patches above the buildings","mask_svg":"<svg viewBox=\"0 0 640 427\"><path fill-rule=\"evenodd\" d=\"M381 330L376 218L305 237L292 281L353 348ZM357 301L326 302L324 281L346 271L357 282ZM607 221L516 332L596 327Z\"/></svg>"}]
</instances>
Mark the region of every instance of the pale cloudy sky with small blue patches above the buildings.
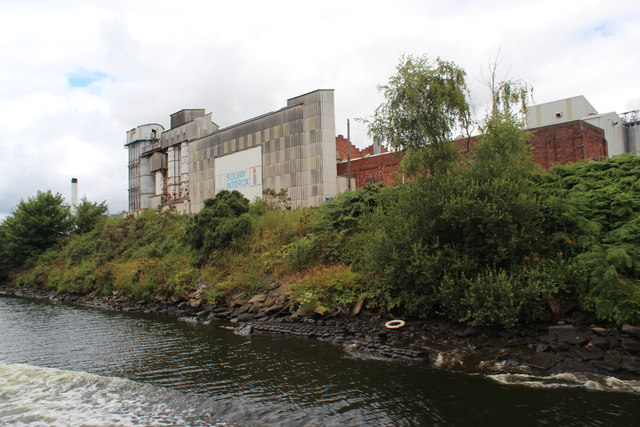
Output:
<instances>
[{"instance_id":1,"label":"pale cloudy sky with small blue patches above the buildings","mask_svg":"<svg viewBox=\"0 0 640 427\"><path fill-rule=\"evenodd\" d=\"M336 133L370 117L402 55L440 57L483 83L522 79L535 103L584 95L640 109L637 0L0 0L0 218L38 191L127 209L126 131L204 108L226 127L335 90Z\"/></svg>"}]
</instances>

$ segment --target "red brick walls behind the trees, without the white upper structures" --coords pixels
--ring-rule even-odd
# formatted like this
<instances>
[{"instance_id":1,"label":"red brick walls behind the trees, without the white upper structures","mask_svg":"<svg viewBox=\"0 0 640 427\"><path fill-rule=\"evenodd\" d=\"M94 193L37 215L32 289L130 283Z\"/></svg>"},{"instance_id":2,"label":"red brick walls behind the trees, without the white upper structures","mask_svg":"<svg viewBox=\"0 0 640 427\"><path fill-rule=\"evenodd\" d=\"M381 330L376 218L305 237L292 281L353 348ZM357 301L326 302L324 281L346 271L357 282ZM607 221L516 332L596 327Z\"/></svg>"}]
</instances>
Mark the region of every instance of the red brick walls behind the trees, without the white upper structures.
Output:
<instances>
[{"instance_id":1,"label":"red brick walls behind the trees, without the white upper structures","mask_svg":"<svg viewBox=\"0 0 640 427\"><path fill-rule=\"evenodd\" d=\"M554 164L578 162L580 160L599 160L606 158L607 142L604 131L582 120L544 126L532 130L529 144L535 161L549 169ZM477 137L471 138L471 145ZM467 151L467 140L454 141L461 151ZM375 182L393 185L403 180L398 173L401 152L389 152L381 147L379 154L374 154L372 146L359 150L351 145L351 178L355 179L356 187L364 187ZM336 156L338 176L347 177L347 140L338 135L336 138Z\"/></svg>"}]
</instances>

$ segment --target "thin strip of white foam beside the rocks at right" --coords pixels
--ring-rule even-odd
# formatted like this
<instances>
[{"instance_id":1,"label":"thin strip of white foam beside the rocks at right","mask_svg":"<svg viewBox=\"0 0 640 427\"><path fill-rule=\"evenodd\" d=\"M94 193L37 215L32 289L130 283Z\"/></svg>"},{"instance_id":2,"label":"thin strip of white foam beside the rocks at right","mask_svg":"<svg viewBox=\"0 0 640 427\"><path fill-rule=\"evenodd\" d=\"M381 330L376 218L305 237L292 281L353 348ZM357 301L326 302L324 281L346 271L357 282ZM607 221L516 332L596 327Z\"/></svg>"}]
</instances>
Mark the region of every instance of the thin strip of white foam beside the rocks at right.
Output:
<instances>
[{"instance_id":1,"label":"thin strip of white foam beside the rocks at right","mask_svg":"<svg viewBox=\"0 0 640 427\"><path fill-rule=\"evenodd\" d=\"M640 381L627 381L598 374L560 373L540 376L509 373L487 376L500 384L507 385L525 385L534 388L585 388L597 391L640 393Z\"/></svg>"}]
</instances>

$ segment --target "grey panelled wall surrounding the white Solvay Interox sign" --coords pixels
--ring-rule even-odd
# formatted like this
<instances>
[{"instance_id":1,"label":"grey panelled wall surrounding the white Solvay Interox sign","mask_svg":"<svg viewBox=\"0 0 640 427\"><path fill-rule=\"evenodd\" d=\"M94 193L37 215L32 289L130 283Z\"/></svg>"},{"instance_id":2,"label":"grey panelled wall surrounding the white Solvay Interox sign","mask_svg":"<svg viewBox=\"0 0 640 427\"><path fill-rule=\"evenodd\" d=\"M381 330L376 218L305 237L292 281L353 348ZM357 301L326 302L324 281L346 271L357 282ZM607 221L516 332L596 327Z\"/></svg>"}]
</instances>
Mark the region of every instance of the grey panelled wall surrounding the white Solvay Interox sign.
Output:
<instances>
[{"instance_id":1,"label":"grey panelled wall surrounding the white Solvay Interox sign","mask_svg":"<svg viewBox=\"0 0 640 427\"><path fill-rule=\"evenodd\" d=\"M215 194L214 159L262 146L262 186L287 188L294 208L336 194L333 90L291 98L287 107L190 142L191 211Z\"/></svg>"}]
</instances>

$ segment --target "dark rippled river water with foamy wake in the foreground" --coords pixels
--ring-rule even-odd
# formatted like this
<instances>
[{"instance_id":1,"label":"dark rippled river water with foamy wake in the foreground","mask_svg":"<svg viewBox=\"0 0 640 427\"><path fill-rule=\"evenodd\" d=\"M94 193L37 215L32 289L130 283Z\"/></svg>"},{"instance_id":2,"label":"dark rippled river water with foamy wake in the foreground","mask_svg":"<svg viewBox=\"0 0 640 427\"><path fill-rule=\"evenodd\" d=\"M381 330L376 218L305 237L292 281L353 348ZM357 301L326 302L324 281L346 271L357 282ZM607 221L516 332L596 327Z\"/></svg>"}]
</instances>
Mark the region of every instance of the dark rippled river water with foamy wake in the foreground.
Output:
<instances>
[{"instance_id":1,"label":"dark rippled river water with foamy wake in the foreground","mask_svg":"<svg viewBox=\"0 0 640 427\"><path fill-rule=\"evenodd\" d=\"M505 385L310 340L0 297L0 424L640 425L640 394L569 377Z\"/></svg>"}]
</instances>

